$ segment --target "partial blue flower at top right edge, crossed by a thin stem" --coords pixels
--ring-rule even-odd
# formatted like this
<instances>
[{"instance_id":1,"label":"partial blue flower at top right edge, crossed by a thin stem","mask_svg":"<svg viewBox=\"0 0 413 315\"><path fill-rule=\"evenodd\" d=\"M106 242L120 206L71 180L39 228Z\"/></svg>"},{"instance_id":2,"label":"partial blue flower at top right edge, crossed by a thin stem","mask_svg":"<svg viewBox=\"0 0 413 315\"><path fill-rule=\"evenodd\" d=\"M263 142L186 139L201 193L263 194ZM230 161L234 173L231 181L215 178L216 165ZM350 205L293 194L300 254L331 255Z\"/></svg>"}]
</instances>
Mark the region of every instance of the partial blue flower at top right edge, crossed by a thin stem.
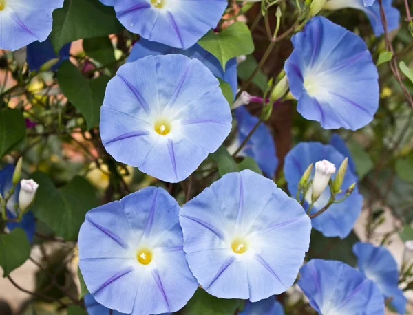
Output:
<instances>
[{"instance_id":1,"label":"partial blue flower at top right edge, crossed by a thin stem","mask_svg":"<svg viewBox=\"0 0 413 315\"><path fill-rule=\"evenodd\" d=\"M385 14L388 31L399 28L400 12L392 6L393 0L383 0L383 9ZM372 25L374 34L380 36L384 34L383 22L381 21L380 4L378 1L366 0L330 0L326 2L324 9L339 10L343 8L354 8L362 10L368 17Z\"/></svg>"}]
</instances>

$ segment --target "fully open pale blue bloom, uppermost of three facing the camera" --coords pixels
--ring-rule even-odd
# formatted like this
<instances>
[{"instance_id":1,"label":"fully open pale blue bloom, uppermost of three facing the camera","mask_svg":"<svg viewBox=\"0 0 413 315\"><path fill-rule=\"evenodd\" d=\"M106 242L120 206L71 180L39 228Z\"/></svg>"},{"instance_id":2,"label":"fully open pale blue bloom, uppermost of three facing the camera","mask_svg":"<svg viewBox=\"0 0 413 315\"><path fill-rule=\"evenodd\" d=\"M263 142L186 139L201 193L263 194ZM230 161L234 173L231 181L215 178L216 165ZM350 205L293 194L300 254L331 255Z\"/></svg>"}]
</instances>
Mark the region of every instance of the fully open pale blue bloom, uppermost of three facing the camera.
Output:
<instances>
[{"instance_id":1,"label":"fully open pale blue bloom, uppermost of three facing the camera","mask_svg":"<svg viewBox=\"0 0 413 315\"><path fill-rule=\"evenodd\" d=\"M218 80L200 61L147 56L107 85L100 135L119 162L179 182L224 142L231 120Z\"/></svg>"}]
</instances>

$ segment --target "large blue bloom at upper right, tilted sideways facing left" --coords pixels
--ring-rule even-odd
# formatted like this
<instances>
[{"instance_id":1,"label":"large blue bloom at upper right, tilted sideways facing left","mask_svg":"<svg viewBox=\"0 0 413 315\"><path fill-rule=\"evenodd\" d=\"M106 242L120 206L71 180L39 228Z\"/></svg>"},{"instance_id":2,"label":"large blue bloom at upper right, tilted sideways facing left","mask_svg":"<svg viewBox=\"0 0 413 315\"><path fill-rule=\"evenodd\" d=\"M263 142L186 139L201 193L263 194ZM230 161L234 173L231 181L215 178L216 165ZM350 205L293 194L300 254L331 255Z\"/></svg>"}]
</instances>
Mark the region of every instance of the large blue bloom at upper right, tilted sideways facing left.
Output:
<instances>
[{"instance_id":1,"label":"large blue bloom at upper right, tilted sideways facing left","mask_svg":"<svg viewBox=\"0 0 413 315\"><path fill-rule=\"evenodd\" d=\"M379 74L366 43L325 17L292 38L284 69L297 110L324 129L357 130L379 107Z\"/></svg>"}]
</instances>

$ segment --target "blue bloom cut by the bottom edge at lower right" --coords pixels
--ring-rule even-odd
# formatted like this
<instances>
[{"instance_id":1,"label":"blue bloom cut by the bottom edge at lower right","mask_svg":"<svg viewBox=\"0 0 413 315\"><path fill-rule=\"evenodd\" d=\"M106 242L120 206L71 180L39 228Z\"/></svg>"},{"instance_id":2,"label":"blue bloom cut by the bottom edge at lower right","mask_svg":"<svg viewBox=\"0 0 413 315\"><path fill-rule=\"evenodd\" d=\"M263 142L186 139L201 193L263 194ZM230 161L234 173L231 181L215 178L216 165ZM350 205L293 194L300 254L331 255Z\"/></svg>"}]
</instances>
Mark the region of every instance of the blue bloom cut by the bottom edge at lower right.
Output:
<instances>
[{"instance_id":1,"label":"blue bloom cut by the bottom edge at lower right","mask_svg":"<svg viewBox=\"0 0 413 315\"><path fill-rule=\"evenodd\" d=\"M346 263L312 259L299 274L299 287L320 315L384 315L379 287Z\"/></svg>"}]
</instances>

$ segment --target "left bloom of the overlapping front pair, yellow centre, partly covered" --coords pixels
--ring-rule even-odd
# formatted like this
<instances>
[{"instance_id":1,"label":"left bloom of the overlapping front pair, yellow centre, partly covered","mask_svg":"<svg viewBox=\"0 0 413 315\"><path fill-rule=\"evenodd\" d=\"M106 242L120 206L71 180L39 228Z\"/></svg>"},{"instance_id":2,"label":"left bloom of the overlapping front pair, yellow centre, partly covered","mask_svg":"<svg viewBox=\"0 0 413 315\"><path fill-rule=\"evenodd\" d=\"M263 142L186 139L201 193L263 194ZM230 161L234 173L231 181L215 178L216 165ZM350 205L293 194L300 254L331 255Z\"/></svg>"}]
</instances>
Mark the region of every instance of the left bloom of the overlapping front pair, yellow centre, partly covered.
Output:
<instances>
[{"instance_id":1,"label":"left bloom of the overlapping front pair, yellow centre, partly covered","mask_svg":"<svg viewBox=\"0 0 413 315\"><path fill-rule=\"evenodd\" d=\"M198 283L185 261L178 212L167 191L147 187L86 214L79 267L98 303L133 315L187 304Z\"/></svg>"}]
</instances>

